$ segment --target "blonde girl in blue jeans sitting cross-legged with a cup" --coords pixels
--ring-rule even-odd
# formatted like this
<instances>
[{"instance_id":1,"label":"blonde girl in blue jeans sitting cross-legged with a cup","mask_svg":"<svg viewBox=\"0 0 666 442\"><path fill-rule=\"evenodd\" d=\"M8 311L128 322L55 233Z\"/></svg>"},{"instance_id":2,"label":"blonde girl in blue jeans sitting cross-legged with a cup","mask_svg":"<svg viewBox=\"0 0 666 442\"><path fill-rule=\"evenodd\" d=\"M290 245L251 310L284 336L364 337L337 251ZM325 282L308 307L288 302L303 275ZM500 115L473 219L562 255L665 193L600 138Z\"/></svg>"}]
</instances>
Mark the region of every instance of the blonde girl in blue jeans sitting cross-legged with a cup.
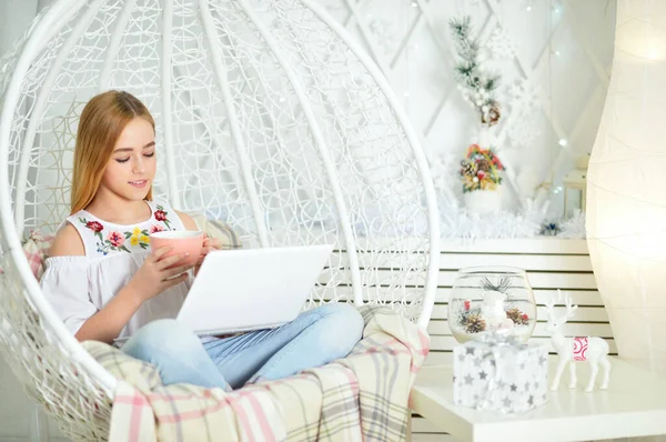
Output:
<instances>
[{"instance_id":1,"label":"blonde girl in blue jeans sitting cross-legged with a cup","mask_svg":"<svg viewBox=\"0 0 666 442\"><path fill-rule=\"evenodd\" d=\"M147 232L198 230L185 213L152 201L155 123L127 92L109 91L83 109L77 134L71 215L61 224L41 285L79 341L112 343L154 364L164 384L240 388L344 358L363 320L346 304L304 312L278 329L199 339L173 318L188 290L185 257L151 253ZM201 261L220 249L206 239ZM172 278L173 277L173 278Z\"/></svg>"}]
</instances>

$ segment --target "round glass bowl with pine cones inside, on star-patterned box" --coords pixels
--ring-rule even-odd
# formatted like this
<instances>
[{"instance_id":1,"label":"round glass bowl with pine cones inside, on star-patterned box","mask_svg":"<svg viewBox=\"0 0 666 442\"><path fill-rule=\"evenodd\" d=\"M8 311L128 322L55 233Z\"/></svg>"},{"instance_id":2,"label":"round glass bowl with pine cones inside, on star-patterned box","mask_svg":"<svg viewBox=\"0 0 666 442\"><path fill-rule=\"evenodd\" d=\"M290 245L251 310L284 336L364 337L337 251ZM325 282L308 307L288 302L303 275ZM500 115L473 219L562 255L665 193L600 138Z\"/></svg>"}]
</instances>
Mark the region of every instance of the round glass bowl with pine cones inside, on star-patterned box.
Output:
<instances>
[{"instance_id":1,"label":"round glass bowl with pine cones inside, on star-patterned box","mask_svg":"<svg viewBox=\"0 0 666 442\"><path fill-rule=\"evenodd\" d=\"M448 325L461 343L493 331L527 341L536 325L536 303L525 270L461 269L448 298Z\"/></svg>"}]
</instances>

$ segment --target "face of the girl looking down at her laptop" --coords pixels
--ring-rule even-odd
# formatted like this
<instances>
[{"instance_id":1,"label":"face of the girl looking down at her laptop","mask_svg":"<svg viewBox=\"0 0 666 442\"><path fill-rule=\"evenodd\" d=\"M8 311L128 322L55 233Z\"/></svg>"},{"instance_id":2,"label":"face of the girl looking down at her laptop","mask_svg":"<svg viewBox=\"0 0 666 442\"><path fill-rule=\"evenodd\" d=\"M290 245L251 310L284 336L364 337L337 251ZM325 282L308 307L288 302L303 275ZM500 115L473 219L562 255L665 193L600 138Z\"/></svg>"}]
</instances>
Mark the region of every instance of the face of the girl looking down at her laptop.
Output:
<instances>
[{"instance_id":1,"label":"face of the girl looking down at her laptop","mask_svg":"<svg viewBox=\"0 0 666 442\"><path fill-rule=\"evenodd\" d=\"M100 188L129 201L141 201L152 185L155 169L155 133L148 121L135 118L118 138Z\"/></svg>"}]
</instances>

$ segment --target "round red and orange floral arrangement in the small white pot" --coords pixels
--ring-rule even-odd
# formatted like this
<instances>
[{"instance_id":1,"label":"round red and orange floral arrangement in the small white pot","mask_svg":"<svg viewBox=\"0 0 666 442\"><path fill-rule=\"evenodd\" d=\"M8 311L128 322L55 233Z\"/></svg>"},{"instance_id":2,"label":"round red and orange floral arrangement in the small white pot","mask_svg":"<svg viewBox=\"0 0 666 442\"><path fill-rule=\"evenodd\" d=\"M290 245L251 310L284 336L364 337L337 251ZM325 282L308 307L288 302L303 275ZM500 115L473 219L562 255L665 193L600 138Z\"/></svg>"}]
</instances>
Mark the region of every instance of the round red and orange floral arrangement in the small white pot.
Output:
<instances>
[{"instance_id":1,"label":"round red and orange floral arrangement in the small white pot","mask_svg":"<svg viewBox=\"0 0 666 442\"><path fill-rule=\"evenodd\" d=\"M482 149L478 144L472 144L467 149L467 155L461 161L460 175L463 181L463 193L475 190L496 190L502 184L501 171L504 164L495 155L492 149Z\"/></svg>"}]
</instances>

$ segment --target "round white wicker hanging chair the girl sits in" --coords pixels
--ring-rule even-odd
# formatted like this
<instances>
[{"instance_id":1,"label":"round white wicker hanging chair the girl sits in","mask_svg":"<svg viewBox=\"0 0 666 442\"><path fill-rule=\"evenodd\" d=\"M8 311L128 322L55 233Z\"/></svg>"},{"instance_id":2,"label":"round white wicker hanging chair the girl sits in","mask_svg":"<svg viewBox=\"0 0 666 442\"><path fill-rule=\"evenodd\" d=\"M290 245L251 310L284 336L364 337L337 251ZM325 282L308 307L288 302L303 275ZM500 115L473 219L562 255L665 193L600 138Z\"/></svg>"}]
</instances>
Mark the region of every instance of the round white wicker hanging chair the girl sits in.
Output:
<instances>
[{"instance_id":1,"label":"round white wicker hanging chair the girl sits in","mask_svg":"<svg viewBox=\"0 0 666 442\"><path fill-rule=\"evenodd\" d=\"M427 324L426 159L331 18L306 0L57 0L0 60L0 350L65 434L107 438L115 380L56 317L21 239L68 214L78 115L108 89L155 117L157 197L251 247L334 242L312 303L391 303Z\"/></svg>"}]
</instances>

